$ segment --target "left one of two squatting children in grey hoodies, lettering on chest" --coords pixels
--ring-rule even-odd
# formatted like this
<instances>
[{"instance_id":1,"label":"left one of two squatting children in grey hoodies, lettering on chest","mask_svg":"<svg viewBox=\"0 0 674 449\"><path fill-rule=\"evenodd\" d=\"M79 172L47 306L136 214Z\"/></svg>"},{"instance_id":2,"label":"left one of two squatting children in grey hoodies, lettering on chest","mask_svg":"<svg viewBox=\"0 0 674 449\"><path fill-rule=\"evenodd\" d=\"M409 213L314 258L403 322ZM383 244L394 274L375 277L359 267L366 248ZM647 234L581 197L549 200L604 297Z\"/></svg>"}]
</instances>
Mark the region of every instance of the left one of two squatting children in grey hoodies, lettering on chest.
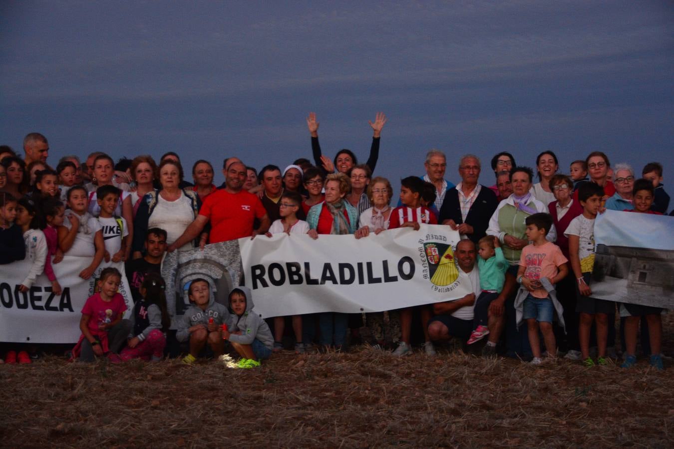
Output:
<instances>
[{"instance_id":1,"label":"left one of two squatting children in grey hoodies, lettering on chest","mask_svg":"<svg viewBox=\"0 0 674 449\"><path fill-rule=\"evenodd\" d=\"M189 354L183 362L193 364L207 341L215 357L220 357L224 349L221 326L227 322L229 312L211 298L210 284L206 279L194 279L189 284L187 295L192 304L185 310L176 334L178 341L189 339Z\"/></svg>"}]
</instances>

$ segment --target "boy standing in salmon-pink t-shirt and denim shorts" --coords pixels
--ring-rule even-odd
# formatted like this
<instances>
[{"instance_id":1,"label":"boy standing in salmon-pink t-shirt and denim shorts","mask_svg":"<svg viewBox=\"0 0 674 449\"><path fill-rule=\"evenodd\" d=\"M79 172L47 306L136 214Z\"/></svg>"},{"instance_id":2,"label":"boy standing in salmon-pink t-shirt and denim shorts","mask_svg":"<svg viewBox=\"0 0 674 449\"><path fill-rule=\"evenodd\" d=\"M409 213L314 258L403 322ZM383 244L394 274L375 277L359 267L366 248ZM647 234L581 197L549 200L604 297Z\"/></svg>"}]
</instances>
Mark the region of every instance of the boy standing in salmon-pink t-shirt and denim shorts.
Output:
<instances>
[{"instance_id":1,"label":"boy standing in salmon-pink t-shirt and denim shorts","mask_svg":"<svg viewBox=\"0 0 674 449\"><path fill-rule=\"evenodd\" d=\"M559 324L564 327L563 309L557 301L555 284L569 273L567 258L559 246L545 239L552 227L552 217L547 213L534 213L526 217L526 238L532 242L524 246L520 256L520 269L517 281L522 284L515 299L515 308L520 320L526 320L526 326L534 358L532 365L543 363L541 359L541 341L539 329L543 334L545 349L549 359L557 356L553 316L557 312Z\"/></svg>"}]
</instances>

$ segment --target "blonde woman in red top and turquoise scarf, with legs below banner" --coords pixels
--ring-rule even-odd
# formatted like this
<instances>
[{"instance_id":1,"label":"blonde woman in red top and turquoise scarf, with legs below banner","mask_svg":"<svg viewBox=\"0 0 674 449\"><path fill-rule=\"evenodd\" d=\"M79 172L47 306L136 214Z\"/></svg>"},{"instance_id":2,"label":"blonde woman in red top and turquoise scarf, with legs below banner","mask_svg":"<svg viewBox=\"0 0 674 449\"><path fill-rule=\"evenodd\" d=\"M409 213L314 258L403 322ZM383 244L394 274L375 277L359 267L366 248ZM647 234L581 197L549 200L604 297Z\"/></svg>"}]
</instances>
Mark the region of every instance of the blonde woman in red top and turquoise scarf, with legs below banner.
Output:
<instances>
[{"instance_id":1,"label":"blonde woman in red top and turquoise scarf, with legs below banner","mask_svg":"<svg viewBox=\"0 0 674 449\"><path fill-rule=\"evenodd\" d=\"M309 236L318 238L319 234L344 235L353 234L358 226L358 211L344 199L350 191L348 176L343 173L332 173L326 178L326 200L311 207L307 214ZM318 314L323 346L335 346L341 349L346 337L348 315L343 313L324 312ZM311 323L303 326L310 329ZM305 343L312 340L311 335L303 337Z\"/></svg>"}]
</instances>

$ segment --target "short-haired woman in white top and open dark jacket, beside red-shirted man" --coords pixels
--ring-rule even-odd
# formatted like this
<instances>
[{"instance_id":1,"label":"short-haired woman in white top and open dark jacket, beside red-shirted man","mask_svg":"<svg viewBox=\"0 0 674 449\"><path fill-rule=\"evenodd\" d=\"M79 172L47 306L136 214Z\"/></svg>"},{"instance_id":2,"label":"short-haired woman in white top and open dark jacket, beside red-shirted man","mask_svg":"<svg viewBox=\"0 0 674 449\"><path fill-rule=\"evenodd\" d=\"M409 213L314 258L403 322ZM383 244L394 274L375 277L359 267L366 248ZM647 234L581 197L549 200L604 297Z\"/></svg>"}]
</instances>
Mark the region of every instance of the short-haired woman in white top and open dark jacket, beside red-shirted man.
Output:
<instances>
[{"instance_id":1,"label":"short-haired woman in white top and open dark jacket, beside red-shirted man","mask_svg":"<svg viewBox=\"0 0 674 449\"><path fill-rule=\"evenodd\" d=\"M140 258L145 242L145 234L150 228L166 231L166 244L172 244L197 217L202 202L191 187L180 188L183 180L183 166L180 162L166 159L159 164L159 182L162 189L152 191L143 197L133 224L133 258ZM181 246L185 251L193 248L193 242Z\"/></svg>"}]
</instances>

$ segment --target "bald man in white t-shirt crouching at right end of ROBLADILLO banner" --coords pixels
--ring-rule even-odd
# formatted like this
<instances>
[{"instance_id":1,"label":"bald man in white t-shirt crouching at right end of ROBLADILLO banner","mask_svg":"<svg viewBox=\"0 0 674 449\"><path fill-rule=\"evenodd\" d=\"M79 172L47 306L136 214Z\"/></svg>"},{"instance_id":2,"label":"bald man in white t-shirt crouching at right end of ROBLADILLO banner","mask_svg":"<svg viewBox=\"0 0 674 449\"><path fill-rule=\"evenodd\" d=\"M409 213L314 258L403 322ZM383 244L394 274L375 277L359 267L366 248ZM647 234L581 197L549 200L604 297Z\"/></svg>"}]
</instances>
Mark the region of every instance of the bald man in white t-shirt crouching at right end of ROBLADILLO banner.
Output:
<instances>
[{"instance_id":1,"label":"bald man in white t-shirt crouching at right end of ROBLADILLO banner","mask_svg":"<svg viewBox=\"0 0 674 449\"><path fill-rule=\"evenodd\" d=\"M456 244L454 257L458 262L459 275L467 276L471 293L458 300L433 304L435 316L428 322L428 333L432 341L449 341L452 337L468 341L472 332L473 306L480 294L476 256L475 244L471 240L460 240Z\"/></svg>"}]
</instances>

